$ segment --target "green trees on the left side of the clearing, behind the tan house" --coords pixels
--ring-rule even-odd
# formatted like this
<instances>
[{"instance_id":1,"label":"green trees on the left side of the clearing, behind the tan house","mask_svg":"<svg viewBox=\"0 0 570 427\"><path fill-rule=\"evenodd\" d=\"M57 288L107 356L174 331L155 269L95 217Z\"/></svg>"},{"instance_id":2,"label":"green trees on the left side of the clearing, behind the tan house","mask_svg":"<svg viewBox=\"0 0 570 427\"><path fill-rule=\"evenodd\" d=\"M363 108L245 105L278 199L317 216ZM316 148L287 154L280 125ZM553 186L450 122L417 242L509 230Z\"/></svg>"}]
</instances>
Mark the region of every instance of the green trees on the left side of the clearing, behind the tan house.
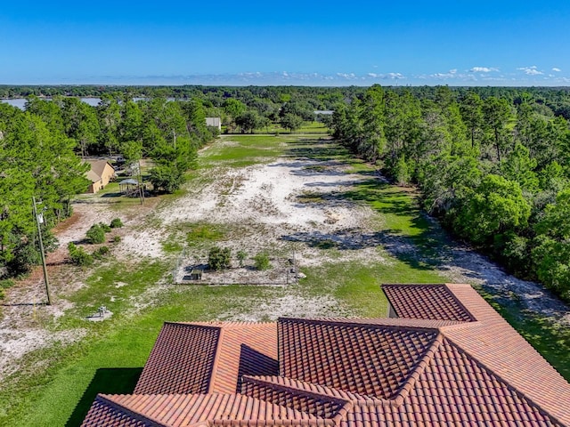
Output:
<instances>
[{"instance_id":1,"label":"green trees on the left side of the clearing, behind the tan house","mask_svg":"<svg viewBox=\"0 0 570 427\"><path fill-rule=\"evenodd\" d=\"M215 133L199 99L135 102L113 93L92 107L75 97L30 96L25 111L0 103L0 278L39 261L32 197L53 247L50 230L71 213L71 197L87 189L84 157L122 154L134 165L151 157L153 188L171 192Z\"/></svg>"}]
</instances>

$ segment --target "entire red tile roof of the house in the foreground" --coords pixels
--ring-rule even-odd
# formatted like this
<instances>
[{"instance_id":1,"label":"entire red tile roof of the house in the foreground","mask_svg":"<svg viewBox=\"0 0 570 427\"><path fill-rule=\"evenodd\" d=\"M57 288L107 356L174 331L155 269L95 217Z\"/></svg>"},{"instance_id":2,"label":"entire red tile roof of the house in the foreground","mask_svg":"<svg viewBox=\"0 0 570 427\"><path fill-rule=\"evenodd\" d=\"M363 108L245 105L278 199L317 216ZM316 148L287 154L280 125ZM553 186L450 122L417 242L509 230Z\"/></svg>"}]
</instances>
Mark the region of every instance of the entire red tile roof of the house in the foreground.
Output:
<instances>
[{"instance_id":1,"label":"entire red tile roof of the house in the foreground","mask_svg":"<svg viewBox=\"0 0 570 427\"><path fill-rule=\"evenodd\" d=\"M162 384L155 373L207 376L208 391L99 396L84 425L570 426L570 384L470 286L384 288L409 318L167 324L137 390ZM202 349L198 334L206 362L173 363Z\"/></svg>"}]
</instances>

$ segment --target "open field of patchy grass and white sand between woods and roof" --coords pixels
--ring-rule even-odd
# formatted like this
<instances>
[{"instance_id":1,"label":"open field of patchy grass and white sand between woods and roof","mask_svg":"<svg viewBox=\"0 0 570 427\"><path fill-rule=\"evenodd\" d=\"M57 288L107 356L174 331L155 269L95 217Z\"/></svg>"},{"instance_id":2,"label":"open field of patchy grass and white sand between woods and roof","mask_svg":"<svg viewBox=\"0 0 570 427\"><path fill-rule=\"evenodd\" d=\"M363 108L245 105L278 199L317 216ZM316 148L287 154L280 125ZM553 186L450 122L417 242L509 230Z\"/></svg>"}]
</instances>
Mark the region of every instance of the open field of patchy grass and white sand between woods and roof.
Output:
<instances>
[{"instance_id":1,"label":"open field of patchy grass and white sand between woods and roof","mask_svg":"<svg viewBox=\"0 0 570 427\"><path fill-rule=\"evenodd\" d=\"M411 189L329 140L227 136L200 152L179 193L144 205L82 197L50 256L56 305L41 274L9 291L0 323L0 425L78 425L97 392L129 392L164 321L386 314L381 283L473 283L570 378L568 309L447 238ZM120 217L120 242L93 269L62 263L69 241ZM176 286L172 272L211 246L295 254L289 286ZM88 249L91 250L91 249ZM184 254L184 255L183 255ZM231 269L228 274L231 274ZM21 305L23 304L23 305ZM112 316L89 322L105 305Z\"/></svg>"}]
</instances>

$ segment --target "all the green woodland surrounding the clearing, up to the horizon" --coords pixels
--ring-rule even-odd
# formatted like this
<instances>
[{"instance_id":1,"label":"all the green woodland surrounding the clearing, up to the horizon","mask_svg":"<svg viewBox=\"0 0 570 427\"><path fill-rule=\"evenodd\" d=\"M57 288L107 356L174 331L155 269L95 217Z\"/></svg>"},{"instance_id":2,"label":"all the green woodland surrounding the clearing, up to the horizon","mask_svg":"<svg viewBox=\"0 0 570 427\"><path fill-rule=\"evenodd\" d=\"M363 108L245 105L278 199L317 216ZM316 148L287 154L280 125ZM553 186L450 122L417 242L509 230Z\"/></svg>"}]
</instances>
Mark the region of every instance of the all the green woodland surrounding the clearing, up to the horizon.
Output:
<instances>
[{"instance_id":1,"label":"all the green woodland surrounding the clearing, up to the horizon","mask_svg":"<svg viewBox=\"0 0 570 427\"><path fill-rule=\"evenodd\" d=\"M37 257L31 196L49 226L69 214L85 187L82 156L151 157L154 188L170 192L216 134L205 117L221 117L225 132L293 131L315 110L334 110L321 117L334 137L396 183L416 185L448 230L570 299L569 88L0 86L0 97L19 96L25 112L0 104L8 270Z\"/></svg>"}]
</instances>

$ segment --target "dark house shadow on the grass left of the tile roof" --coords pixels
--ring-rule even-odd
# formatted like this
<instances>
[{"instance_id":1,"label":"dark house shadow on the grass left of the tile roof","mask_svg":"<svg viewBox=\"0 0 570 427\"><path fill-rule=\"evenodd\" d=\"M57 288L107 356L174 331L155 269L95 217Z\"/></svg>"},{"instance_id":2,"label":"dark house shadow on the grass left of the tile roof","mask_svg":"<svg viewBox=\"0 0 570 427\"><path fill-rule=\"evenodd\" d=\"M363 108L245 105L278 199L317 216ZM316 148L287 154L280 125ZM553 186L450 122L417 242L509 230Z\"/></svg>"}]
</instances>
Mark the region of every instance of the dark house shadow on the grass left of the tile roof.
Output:
<instances>
[{"instance_id":1,"label":"dark house shadow on the grass left of the tile roof","mask_svg":"<svg viewBox=\"0 0 570 427\"><path fill-rule=\"evenodd\" d=\"M142 367L102 367L97 369L65 426L80 426L98 393L132 393L141 373Z\"/></svg>"}]
</instances>

